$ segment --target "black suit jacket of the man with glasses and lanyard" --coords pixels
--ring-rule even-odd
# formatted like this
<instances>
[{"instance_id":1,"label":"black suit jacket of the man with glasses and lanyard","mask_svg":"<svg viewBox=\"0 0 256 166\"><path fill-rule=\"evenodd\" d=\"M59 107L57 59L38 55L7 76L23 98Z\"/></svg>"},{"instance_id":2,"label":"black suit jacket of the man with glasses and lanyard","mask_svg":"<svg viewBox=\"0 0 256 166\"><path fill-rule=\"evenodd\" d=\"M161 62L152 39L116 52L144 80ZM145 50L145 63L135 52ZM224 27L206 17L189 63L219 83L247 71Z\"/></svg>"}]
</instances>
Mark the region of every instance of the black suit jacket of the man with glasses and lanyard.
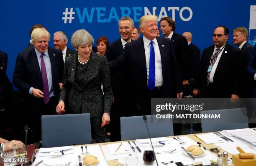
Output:
<instances>
[{"instance_id":1,"label":"black suit jacket of the man with glasses and lanyard","mask_svg":"<svg viewBox=\"0 0 256 166\"><path fill-rule=\"evenodd\" d=\"M207 70L214 51L214 45L204 49L195 79L195 88L202 92L207 87ZM230 98L231 94L241 94L241 72L243 69L241 51L227 43L213 77L213 96ZM203 93L201 93L203 94Z\"/></svg>"}]
</instances>

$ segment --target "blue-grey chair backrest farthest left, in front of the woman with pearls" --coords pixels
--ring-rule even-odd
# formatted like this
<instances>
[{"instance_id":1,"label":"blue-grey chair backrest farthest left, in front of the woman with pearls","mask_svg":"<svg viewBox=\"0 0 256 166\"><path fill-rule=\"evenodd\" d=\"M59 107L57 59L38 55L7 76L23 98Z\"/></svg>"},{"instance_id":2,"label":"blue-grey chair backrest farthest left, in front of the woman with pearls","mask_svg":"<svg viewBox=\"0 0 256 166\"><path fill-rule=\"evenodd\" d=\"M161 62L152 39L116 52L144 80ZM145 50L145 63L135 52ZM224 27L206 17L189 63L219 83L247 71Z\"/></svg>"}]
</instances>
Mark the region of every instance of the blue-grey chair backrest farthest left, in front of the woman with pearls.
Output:
<instances>
[{"instance_id":1,"label":"blue-grey chair backrest farthest left, in front of the woman with pearls","mask_svg":"<svg viewBox=\"0 0 256 166\"><path fill-rule=\"evenodd\" d=\"M92 142L90 114L43 115L42 147Z\"/></svg>"}]
</instances>

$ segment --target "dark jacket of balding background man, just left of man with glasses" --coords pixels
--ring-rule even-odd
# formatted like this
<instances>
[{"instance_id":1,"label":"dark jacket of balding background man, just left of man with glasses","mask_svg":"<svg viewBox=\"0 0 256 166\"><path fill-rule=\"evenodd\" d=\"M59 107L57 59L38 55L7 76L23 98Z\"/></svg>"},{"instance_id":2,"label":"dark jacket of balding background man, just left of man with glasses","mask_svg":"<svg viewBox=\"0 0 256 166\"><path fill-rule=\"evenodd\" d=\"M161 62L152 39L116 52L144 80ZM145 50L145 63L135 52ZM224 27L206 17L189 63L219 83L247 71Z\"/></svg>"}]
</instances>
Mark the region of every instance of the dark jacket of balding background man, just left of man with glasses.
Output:
<instances>
[{"instance_id":1,"label":"dark jacket of balding background man, just left of man with glasses","mask_svg":"<svg viewBox=\"0 0 256 166\"><path fill-rule=\"evenodd\" d=\"M193 43L189 44L189 52L190 52L190 77L195 78L197 68L200 63L201 52L200 49Z\"/></svg>"}]
</instances>

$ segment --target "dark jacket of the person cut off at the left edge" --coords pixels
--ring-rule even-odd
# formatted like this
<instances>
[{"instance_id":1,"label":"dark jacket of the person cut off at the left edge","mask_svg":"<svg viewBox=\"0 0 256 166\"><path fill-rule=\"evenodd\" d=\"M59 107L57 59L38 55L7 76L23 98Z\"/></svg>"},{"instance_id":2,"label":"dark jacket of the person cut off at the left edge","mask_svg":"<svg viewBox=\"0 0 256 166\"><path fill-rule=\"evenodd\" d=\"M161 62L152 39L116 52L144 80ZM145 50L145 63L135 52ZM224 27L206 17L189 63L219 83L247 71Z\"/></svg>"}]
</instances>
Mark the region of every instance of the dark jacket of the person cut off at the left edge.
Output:
<instances>
[{"instance_id":1,"label":"dark jacket of the person cut off at the left edge","mask_svg":"<svg viewBox=\"0 0 256 166\"><path fill-rule=\"evenodd\" d=\"M10 91L13 89L12 84L5 73L7 69L7 59L7 54L0 51L0 67L3 68L0 69L0 97L10 93Z\"/></svg>"}]
</instances>

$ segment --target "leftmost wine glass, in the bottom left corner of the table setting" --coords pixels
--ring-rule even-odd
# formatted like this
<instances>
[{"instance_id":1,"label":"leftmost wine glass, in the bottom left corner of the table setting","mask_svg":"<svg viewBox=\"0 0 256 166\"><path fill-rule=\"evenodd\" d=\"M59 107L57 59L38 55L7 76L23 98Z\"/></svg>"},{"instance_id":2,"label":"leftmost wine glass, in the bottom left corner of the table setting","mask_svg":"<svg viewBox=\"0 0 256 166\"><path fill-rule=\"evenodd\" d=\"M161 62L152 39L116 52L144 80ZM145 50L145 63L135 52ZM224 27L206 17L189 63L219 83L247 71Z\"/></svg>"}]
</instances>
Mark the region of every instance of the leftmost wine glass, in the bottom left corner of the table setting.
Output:
<instances>
[{"instance_id":1,"label":"leftmost wine glass, in the bottom left corner of the table setting","mask_svg":"<svg viewBox=\"0 0 256 166\"><path fill-rule=\"evenodd\" d=\"M3 143L1 145L1 149L0 149L0 152L1 152L1 158L5 159L5 160L8 160L8 163L9 163L9 166L11 166L11 162L10 162L10 159L13 158L16 154L16 151L15 151L15 146L13 145L13 143ZM14 163L15 165L15 163ZM4 162L4 166L7 166L7 163Z\"/></svg>"}]
</instances>

